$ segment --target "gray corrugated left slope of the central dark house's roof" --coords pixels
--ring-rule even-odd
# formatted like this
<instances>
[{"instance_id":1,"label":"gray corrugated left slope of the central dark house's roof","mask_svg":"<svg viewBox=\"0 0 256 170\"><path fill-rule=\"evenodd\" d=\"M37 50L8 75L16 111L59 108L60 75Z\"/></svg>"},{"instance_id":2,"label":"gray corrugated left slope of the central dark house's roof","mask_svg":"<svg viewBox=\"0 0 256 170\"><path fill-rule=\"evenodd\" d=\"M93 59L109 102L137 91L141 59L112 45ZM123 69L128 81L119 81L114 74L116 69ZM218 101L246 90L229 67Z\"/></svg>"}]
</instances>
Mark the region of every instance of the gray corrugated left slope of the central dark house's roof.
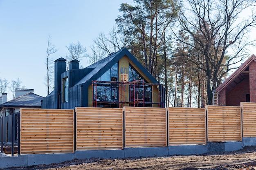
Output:
<instances>
[{"instance_id":1,"label":"gray corrugated left slope of the central dark house's roof","mask_svg":"<svg viewBox=\"0 0 256 170\"><path fill-rule=\"evenodd\" d=\"M99 70L101 70L101 68L106 66L106 64L108 64L113 58L115 58L123 50L124 49L121 49L121 50L117 51L116 53L112 53L108 57L100 60L99 62L96 62L96 63L86 67L86 68L94 68L94 69L90 73L88 73L88 75L83 77L79 82L77 82L75 85L83 84L83 83L87 82L93 75L95 75Z\"/></svg>"}]
</instances>

